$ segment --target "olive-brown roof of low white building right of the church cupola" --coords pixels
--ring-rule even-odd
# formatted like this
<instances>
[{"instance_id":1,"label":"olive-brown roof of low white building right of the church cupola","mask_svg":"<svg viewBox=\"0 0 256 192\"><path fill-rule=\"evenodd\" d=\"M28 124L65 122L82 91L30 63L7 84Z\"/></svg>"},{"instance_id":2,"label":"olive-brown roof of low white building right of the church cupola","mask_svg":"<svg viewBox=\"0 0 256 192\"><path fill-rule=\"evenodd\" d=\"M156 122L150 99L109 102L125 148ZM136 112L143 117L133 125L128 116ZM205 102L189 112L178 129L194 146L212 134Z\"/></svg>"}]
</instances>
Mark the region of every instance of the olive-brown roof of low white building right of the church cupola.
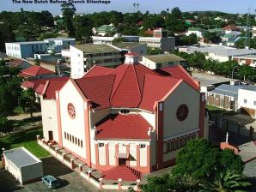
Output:
<instances>
[{"instance_id":1,"label":"olive-brown roof of low white building right of the church cupola","mask_svg":"<svg viewBox=\"0 0 256 192\"><path fill-rule=\"evenodd\" d=\"M174 54L147 55L147 56L143 56L143 57L145 57L155 63L185 61L185 59L178 57Z\"/></svg>"}]
</instances>

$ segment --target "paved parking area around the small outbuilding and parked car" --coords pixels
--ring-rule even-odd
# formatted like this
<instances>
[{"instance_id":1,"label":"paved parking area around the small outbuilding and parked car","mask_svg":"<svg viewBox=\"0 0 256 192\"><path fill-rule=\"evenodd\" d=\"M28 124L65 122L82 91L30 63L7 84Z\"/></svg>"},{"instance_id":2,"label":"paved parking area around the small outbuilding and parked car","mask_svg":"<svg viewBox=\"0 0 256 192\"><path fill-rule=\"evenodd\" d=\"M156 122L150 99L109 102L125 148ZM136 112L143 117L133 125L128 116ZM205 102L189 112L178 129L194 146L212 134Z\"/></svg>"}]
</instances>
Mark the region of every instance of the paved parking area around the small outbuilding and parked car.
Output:
<instances>
[{"instance_id":1,"label":"paved parking area around the small outbuilding and parked car","mask_svg":"<svg viewBox=\"0 0 256 192\"><path fill-rule=\"evenodd\" d=\"M86 179L79 176L76 171L70 170L67 166L61 164L57 159L52 157L42 159L44 166L44 175L52 175L57 177L61 183L58 189L51 189L51 191L99 191L91 183L88 183ZM15 182L15 178L12 177L8 171L0 171L0 191L49 191L45 183L41 181L35 183L29 183L21 186Z\"/></svg>"}]
</instances>

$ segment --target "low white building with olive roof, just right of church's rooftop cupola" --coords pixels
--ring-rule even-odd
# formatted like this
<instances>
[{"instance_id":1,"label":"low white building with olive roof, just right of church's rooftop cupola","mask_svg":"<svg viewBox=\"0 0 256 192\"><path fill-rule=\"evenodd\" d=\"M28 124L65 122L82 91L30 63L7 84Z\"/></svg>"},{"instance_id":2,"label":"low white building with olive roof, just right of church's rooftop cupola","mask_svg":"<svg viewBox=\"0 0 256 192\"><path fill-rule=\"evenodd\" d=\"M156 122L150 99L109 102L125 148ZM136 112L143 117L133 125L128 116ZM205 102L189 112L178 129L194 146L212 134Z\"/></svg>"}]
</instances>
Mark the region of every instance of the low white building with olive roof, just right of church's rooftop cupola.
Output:
<instances>
[{"instance_id":1,"label":"low white building with olive roof, just right of church's rooftop cupola","mask_svg":"<svg viewBox=\"0 0 256 192\"><path fill-rule=\"evenodd\" d=\"M185 59L174 54L148 55L143 56L141 63L149 69L162 69L175 65L185 65Z\"/></svg>"}]
</instances>

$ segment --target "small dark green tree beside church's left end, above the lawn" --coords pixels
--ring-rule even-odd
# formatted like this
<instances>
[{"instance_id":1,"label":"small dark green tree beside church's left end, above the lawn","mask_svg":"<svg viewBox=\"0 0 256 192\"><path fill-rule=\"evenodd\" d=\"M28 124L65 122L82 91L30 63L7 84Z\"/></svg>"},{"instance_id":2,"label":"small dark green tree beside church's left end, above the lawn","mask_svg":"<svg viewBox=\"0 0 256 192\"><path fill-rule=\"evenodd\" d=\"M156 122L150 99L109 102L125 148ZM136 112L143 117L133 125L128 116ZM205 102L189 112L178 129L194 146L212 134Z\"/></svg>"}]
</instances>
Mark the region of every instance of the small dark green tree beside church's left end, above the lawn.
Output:
<instances>
[{"instance_id":1,"label":"small dark green tree beside church's left end, above the lawn","mask_svg":"<svg viewBox=\"0 0 256 192\"><path fill-rule=\"evenodd\" d=\"M23 90L21 92L19 103L24 112L26 108L29 108L31 117L33 117L33 111L36 105L35 101L36 101L36 97L35 97L34 89L28 88L27 90Z\"/></svg>"}]
</instances>

